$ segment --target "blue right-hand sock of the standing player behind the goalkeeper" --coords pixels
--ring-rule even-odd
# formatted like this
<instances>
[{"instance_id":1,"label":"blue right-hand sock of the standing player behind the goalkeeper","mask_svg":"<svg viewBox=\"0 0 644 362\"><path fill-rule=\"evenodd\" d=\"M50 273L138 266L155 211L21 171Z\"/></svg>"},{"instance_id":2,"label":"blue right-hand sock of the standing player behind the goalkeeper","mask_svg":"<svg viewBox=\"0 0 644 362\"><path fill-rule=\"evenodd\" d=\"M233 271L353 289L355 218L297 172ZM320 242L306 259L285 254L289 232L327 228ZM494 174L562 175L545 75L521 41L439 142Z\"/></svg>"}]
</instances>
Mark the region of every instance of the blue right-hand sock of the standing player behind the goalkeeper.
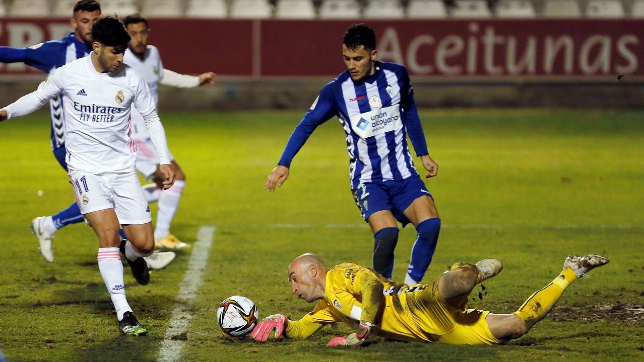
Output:
<instances>
[{"instance_id":1,"label":"blue right-hand sock of the standing player behind the goalkeeper","mask_svg":"<svg viewBox=\"0 0 644 362\"><path fill-rule=\"evenodd\" d=\"M413 280L420 282L430 266L431 257L439 240L440 219L438 217L427 219L418 224L416 231L418 231L418 237L413 243L412 261L409 263L407 273Z\"/></svg>"}]
</instances>

